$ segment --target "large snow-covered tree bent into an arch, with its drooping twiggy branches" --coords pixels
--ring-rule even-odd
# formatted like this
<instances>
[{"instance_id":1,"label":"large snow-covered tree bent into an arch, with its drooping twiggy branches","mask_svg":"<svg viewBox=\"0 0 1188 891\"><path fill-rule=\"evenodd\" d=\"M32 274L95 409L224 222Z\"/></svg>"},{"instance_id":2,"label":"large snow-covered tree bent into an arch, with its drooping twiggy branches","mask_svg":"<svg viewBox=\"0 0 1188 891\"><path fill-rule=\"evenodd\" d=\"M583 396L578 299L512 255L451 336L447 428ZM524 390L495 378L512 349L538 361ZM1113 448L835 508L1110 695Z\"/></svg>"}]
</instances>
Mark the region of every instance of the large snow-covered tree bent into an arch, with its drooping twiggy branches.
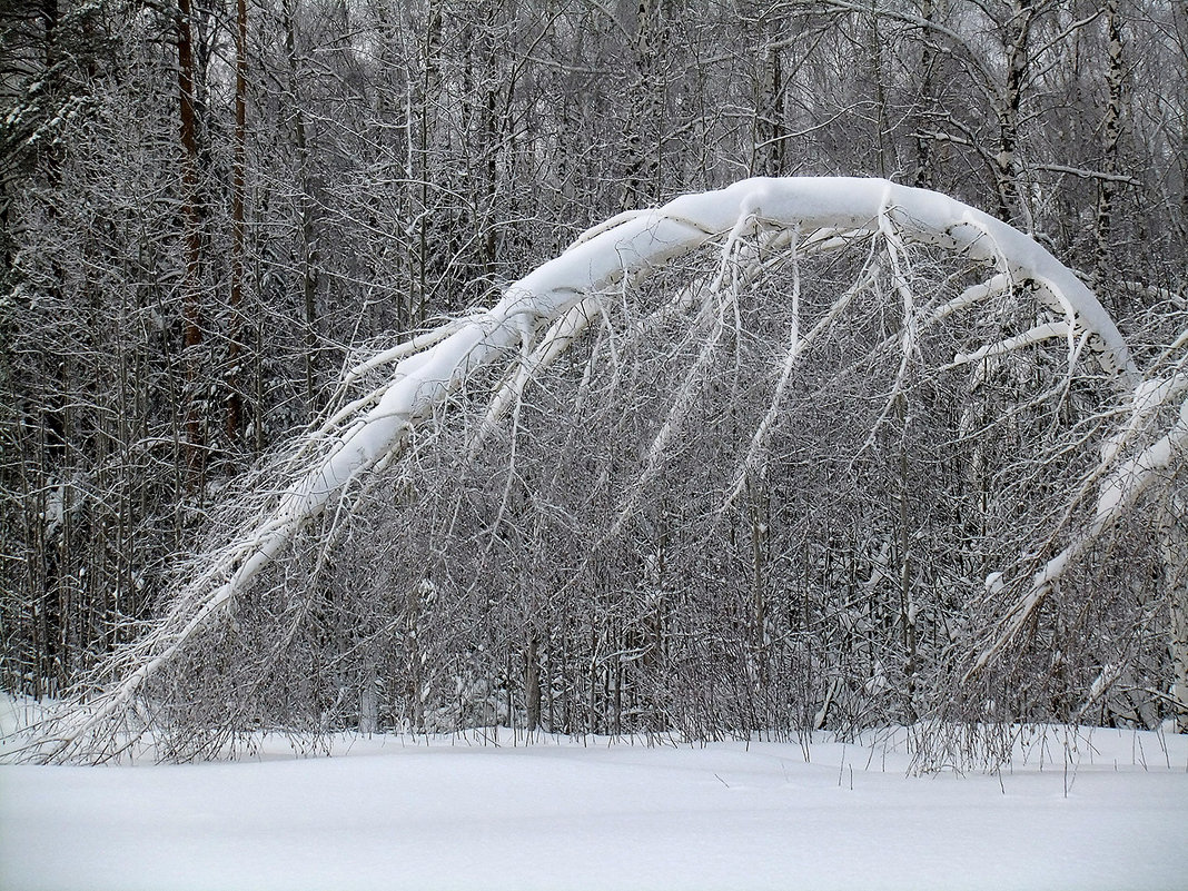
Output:
<instances>
[{"instance_id":1,"label":"large snow-covered tree bent into an arch, with its drooping twiggy branches","mask_svg":"<svg viewBox=\"0 0 1188 891\"><path fill-rule=\"evenodd\" d=\"M880 179L619 215L350 368L31 751L1182 715L1183 347Z\"/></svg>"}]
</instances>

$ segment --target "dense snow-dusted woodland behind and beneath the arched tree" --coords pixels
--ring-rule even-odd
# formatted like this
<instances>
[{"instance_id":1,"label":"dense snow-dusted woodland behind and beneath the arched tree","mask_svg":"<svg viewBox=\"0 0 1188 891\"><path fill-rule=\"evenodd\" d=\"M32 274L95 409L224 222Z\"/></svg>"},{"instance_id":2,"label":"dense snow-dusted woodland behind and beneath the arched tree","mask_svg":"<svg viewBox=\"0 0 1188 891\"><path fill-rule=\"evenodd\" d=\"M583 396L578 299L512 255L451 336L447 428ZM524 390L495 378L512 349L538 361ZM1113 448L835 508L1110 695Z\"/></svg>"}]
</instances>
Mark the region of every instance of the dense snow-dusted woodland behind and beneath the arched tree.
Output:
<instances>
[{"instance_id":1,"label":"dense snow-dusted woodland behind and beneath the arched tree","mask_svg":"<svg viewBox=\"0 0 1188 891\"><path fill-rule=\"evenodd\" d=\"M361 355L683 192L798 175L946 192L1076 270L1140 368L1183 369L1178 0L7 0L0 102L10 690L56 694L132 640ZM476 449L481 400L460 396L462 422L418 432L349 522L315 524L152 701L185 739L707 738L910 723L942 701L1188 722L1169 646L1188 651L1183 470L962 685L994 570L1067 536L1064 493L1119 412L1059 350L946 365L1034 324L1025 287L936 331L934 371L901 387L880 347L893 283L867 253L762 265L726 334L632 327L712 255L624 289L621 336L608 322L535 381L514 430ZM921 301L975 280L940 252L914 261ZM792 282L805 312L839 293L865 309L788 385L771 460L735 479L800 323Z\"/></svg>"}]
</instances>

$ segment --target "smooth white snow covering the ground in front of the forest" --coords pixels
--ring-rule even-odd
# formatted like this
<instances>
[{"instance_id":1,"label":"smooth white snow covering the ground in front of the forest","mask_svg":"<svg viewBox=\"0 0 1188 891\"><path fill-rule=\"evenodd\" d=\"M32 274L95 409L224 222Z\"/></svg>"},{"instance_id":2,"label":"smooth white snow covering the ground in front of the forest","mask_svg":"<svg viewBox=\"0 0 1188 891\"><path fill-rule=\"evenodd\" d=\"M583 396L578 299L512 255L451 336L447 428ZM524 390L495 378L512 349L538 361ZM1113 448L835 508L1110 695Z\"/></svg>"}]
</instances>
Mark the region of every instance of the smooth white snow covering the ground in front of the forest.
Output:
<instances>
[{"instance_id":1,"label":"smooth white snow covering the ground in front of the forest","mask_svg":"<svg viewBox=\"0 0 1188 891\"><path fill-rule=\"evenodd\" d=\"M1055 728L1000 776L911 777L902 735L2 765L0 889L1188 889L1188 737Z\"/></svg>"}]
</instances>

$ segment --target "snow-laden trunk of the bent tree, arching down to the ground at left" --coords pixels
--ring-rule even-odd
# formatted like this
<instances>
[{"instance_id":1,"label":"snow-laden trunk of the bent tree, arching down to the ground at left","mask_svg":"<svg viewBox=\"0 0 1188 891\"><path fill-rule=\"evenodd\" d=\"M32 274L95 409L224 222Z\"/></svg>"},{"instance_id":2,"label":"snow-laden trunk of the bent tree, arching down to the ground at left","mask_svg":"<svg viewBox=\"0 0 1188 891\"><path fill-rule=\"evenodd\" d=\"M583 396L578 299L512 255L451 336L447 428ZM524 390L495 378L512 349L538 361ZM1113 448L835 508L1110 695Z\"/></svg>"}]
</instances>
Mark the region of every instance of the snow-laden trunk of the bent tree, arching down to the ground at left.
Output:
<instances>
[{"instance_id":1,"label":"snow-laden trunk of the bent tree, arching down to the ground at left","mask_svg":"<svg viewBox=\"0 0 1188 891\"><path fill-rule=\"evenodd\" d=\"M138 697L156 672L217 621L229 618L234 625L236 602L248 596L261 570L324 511L349 511L350 493L386 467L405 446L410 432L440 412L481 368L510 360L519 362L519 371L505 377L491 399L488 419L494 422L518 404L525 381L548 367L589 320L598 317L611 285L638 285L643 276L675 258L709 242L721 242L722 266L709 284L712 290L722 289L727 261L758 226L786 233L783 242L777 239L772 244L783 244L785 248L791 245L794 255L828 249L859 236L881 239L904 312L903 360L896 387L903 385L917 348L916 310L904 268L909 244L954 252L994 270L985 285L968 289L958 301L937 309L930 322L939 323L1011 287L1029 289L1041 307L1060 320L1026 335L987 345L973 354L959 355L956 365L1060 337L1068 342L1070 362L1087 346L1120 392L1132 390L1139 379L1118 329L1075 274L1018 230L935 192L881 179L757 178L720 191L687 195L661 208L620 214L589 229L560 257L508 285L489 310L447 322L378 353L348 372L343 387L391 368L386 381L333 411L296 443L289 459L289 481L272 499L271 508L201 557L192 576L178 587L171 608L138 640L100 666L78 697L48 726L48 735L37 748L39 757L109 757L120 751L122 744L114 740L121 731L128 729L134 739L137 727L143 726L137 719ZM682 299L678 296L674 305ZM803 336L794 336L788 368L796 364L803 347L845 309L847 299L843 297L833 312ZM718 310L718 328L725 324L727 312L725 303ZM703 358L712 356L714 342L713 337L707 341ZM694 364L685 385L690 393L704 368L708 365L702 365L701 359ZM678 393L645 456L642 480L658 470L687 403ZM770 421L756 432L740 469L740 485L745 485L754 456L763 448ZM738 491L737 486L735 494ZM1131 500L1121 499L1126 504ZM620 507L612 533L623 527L631 507L630 500ZM308 608L299 607L297 620Z\"/></svg>"}]
</instances>

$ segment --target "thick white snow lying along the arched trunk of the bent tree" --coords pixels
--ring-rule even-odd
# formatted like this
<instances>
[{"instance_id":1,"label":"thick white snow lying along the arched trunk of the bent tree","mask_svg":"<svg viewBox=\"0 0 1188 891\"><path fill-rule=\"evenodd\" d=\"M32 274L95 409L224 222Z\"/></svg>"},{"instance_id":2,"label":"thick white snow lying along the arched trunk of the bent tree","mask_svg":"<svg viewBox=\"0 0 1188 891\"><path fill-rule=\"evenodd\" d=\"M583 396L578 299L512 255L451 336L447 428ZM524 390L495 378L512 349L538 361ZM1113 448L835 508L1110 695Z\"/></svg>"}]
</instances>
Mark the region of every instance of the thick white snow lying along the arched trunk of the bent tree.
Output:
<instances>
[{"instance_id":1,"label":"thick white snow lying along the arched trunk of the bent tree","mask_svg":"<svg viewBox=\"0 0 1188 891\"><path fill-rule=\"evenodd\" d=\"M720 191L685 195L664 207L621 214L588 230L563 254L510 285L489 310L453 320L436 331L384 350L352 369L346 383L386 366L388 380L340 410L297 450L291 482L274 510L208 555L201 575L182 588L171 612L129 651L106 666L107 684L57 728L45 757L78 757L86 738L119 719L148 677L188 639L220 615L260 570L355 479L386 465L415 429L475 369L516 358L544 331L541 348L506 379L492 405L498 418L533 368L548 365L584 327L590 307L575 307L624 276L646 273L712 240L753 225L803 234L802 245L839 233L895 232L897 239L935 245L994 267L992 295L1007 283L1036 282L1036 295L1089 336L1102 367L1132 388L1138 374L1121 335L1086 286L1023 233L943 195L860 178L758 178ZM725 251L729 251L727 240ZM551 328L558 320L567 320ZM811 336L811 333L809 334ZM794 339L794 340L798 340ZM794 343L789 361L798 349ZM110 678L118 678L112 681ZM81 721L81 722L80 722ZM87 757L86 754L83 757Z\"/></svg>"}]
</instances>

